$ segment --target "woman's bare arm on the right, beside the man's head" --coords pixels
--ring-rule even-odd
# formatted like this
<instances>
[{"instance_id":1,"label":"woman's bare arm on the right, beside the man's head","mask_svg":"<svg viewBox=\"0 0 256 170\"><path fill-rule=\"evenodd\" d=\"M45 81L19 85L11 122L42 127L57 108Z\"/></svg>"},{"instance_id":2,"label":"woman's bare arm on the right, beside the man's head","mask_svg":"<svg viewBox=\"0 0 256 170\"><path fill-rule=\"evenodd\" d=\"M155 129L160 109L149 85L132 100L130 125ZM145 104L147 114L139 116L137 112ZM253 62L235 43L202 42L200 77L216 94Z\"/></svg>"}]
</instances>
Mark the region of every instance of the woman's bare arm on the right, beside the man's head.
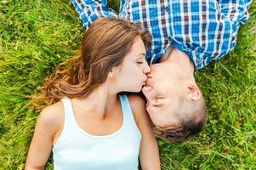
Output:
<instances>
[{"instance_id":1,"label":"woman's bare arm on the right, beside the man's head","mask_svg":"<svg viewBox=\"0 0 256 170\"><path fill-rule=\"evenodd\" d=\"M160 170L159 151L155 135L150 129L150 118L145 111L145 101L139 96L129 96L135 121L142 134L139 150L140 166L143 170Z\"/></svg>"}]
</instances>

